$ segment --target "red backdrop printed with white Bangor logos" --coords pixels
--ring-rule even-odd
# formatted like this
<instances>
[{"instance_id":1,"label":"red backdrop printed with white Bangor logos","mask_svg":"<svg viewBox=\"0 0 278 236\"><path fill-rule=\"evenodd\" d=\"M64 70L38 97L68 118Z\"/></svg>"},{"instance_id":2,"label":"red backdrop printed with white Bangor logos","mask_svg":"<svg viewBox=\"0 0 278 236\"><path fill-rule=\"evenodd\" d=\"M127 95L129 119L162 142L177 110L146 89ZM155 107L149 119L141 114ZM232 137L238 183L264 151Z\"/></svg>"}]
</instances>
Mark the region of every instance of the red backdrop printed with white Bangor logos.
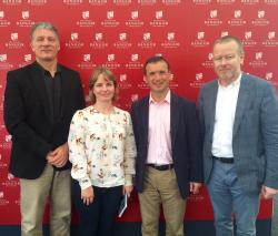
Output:
<instances>
[{"instance_id":1,"label":"red backdrop printed with white Bangor logos","mask_svg":"<svg viewBox=\"0 0 278 236\"><path fill-rule=\"evenodd\" d=\"M88 80L96 65L113 70L119 81L118 105L148 93L142 64L155 54L171 63L172 90L196 101L199 88L215 78L211 43L224 34L244 41L244 71L276 88L278 82L278 0L1 0L0 1L0 224L20 224L19 182L8 173L11 136L3 124L3 93L8 70L34 57L30 27L50 21L61 35L61 63L78 70L88 98ZM119 220L140 220L137 196ZM262 201L259 218L271 216ZM187 219L211 220L206 193L189 197Z\"/></svg>"}]
</instances>

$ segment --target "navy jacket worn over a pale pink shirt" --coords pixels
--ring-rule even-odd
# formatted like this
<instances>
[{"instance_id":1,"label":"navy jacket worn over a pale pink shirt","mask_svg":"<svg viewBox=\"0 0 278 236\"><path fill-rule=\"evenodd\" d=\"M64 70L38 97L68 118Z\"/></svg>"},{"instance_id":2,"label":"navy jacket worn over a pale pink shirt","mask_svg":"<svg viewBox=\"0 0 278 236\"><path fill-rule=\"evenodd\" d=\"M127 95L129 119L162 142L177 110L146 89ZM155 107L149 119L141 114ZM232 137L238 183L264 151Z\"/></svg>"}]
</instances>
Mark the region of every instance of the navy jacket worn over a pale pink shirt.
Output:
<instances>
[{"instance_id":1,"label":"navy jacket worn over a pale pink shirt","mask_svg":"<svg viewBox=\"0 0 278 236\"><path fill-rule=\"evenodd\" d=\"M137 160L136 187L143 191L143 175L148 155L149 96L135 102L131 109ZM173 167L181 196L189 193L189 182L202 182L201 138L196 105L171 93L170 136Z\"/></svg>"}]
</instances>

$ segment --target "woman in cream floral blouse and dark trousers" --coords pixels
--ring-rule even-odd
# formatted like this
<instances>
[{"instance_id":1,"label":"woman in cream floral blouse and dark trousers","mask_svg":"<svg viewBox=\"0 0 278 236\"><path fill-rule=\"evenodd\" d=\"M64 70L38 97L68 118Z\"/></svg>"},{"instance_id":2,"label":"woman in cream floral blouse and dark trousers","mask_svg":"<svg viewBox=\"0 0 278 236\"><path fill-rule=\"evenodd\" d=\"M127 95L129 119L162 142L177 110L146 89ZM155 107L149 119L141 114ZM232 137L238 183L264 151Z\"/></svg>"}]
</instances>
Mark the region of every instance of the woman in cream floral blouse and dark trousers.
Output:
<instances>
[{"instance_id":1,"label":"woman in cream floral blouse and dark trousers","mask_svg":"<svg viewBox=\"0 0 278 236\"><path fill-rule=\"evenodd\" d=\"M68 138L78 235L111 236L121 197L133 188L135 137L129 113L113 106L113 73L97 68L89 90L92 105L76 112Z\"/></svg>"}]
</instances>

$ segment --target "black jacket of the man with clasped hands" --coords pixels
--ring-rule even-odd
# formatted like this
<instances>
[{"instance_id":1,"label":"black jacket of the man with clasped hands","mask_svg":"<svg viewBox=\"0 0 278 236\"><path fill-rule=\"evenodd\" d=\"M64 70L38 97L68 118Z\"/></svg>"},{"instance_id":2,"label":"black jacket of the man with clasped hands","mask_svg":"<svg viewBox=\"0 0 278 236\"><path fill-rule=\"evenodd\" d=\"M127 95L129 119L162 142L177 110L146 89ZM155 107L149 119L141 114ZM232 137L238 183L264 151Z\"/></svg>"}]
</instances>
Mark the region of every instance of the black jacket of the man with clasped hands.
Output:
<instances>
[{"instance_id":1,"label":"black jacket of the man with clasped hands","mask_svg":"<svg viewBox=\"0 0 278 236\"><path fill-rule=\"evenodd\" d=\"M12 135L10 172L20 178L37 178L47 164L47 154L68 140L73 113L85 107L78 72L61 69L61 107L51 121L50 105L41 70L37 62L10 71L4 92L4 123ZM59 168L69 168L66 166Z\"/></svg>"}]
</instances>

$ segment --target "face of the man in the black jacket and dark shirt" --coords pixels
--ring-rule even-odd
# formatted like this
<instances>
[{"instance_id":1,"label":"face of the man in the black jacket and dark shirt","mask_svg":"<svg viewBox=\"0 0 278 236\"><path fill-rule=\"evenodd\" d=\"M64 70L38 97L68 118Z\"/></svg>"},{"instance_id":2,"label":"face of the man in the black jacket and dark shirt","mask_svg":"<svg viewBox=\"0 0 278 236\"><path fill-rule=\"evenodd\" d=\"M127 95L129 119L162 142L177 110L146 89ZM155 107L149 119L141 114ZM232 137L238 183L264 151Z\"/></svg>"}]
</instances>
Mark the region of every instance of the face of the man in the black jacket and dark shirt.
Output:
<instances>
[{"instance_id":1,"label":"face of the man in the black jacket and dark shirt","mask_svg":"<svg viewBox=\"0 0 278 236\"><path fill-rule=\"evenodd\" d=\"M37 29L33 33L31 48L38 61L51 62L57 59L60 42L52 31Z\"/></svg>"}]
</instances>

